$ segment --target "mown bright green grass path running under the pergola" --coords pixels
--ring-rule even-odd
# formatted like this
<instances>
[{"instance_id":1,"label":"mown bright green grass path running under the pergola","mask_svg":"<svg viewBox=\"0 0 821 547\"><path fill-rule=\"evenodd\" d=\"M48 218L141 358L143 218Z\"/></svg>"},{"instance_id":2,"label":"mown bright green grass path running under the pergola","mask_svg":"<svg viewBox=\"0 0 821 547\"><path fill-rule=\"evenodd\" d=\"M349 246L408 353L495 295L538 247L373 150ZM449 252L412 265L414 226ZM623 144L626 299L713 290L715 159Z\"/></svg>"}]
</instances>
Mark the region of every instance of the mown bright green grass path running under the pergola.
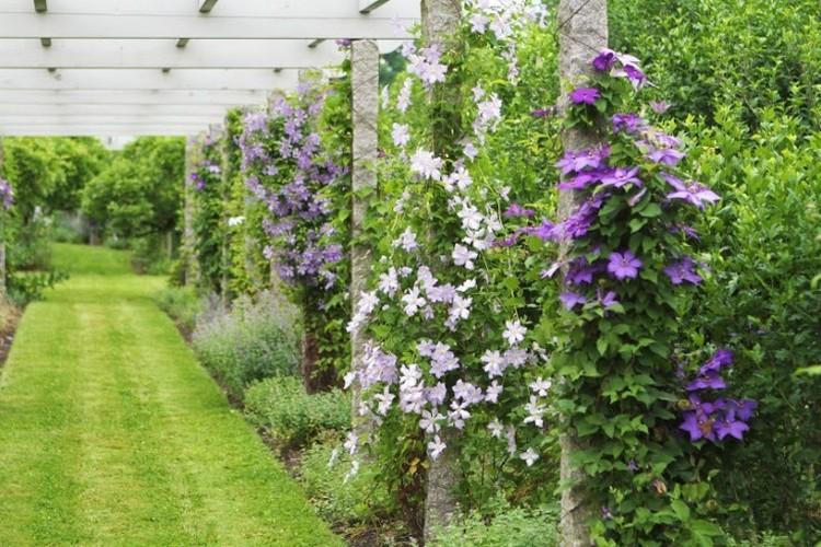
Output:
<instances>
[{"instance_id":1,"label":"mown bright green grass path running under the pergola","mask_svg":"<svg viewBox=\"0 0 821 547\"><path fill-rule=\"evenodd\" d=\"M58 245L0 376L0 545L335 546L125 255Z\"/></svg>"}]
</instances>

